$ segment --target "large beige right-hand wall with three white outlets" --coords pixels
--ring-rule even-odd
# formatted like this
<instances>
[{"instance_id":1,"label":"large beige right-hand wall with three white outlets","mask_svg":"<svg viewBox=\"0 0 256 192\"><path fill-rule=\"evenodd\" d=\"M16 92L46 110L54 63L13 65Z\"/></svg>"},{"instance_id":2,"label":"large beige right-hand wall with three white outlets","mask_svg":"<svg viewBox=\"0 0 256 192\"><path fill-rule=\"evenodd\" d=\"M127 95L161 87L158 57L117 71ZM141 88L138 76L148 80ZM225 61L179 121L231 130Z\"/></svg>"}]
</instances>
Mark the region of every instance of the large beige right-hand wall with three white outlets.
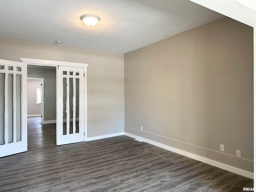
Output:
<instances>
[{"instance_id":1,"label":"large beige right-hand wall with three white outlets","mask_svg":"<svg viewBox=\"0 0 256 192\"><path fill-rule=\"evenodd\" d=\"M124 87L125 132L253 172L251 27L223 18L124 54Z\"/></svg>"}]
</instances>

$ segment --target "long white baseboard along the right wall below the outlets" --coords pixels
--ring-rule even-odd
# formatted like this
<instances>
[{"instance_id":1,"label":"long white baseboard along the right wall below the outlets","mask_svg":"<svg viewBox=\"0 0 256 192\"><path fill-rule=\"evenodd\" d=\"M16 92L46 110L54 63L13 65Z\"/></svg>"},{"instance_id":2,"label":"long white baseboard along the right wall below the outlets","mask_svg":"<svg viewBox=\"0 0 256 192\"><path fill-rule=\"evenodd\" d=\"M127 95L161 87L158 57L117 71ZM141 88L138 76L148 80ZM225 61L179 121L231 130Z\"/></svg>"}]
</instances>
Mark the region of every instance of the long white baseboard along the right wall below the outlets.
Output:
<instances>
[{"instance_id":1,"label":"long white baseboard along the right wall below the outlets","mask_svg":"<svg viewBox=\"0 0 256 192\"><path fill-rule=\"evenodd\" d=\"M198 156L196 154L192 154L190 152L186 152L186 151L183 151L183 150L180 150L180 149L177 149L177 148L173 148L173 147L170 147L170 146L167 146L167 145L164 145L164 144L161 144L161 143L158 143L158 142L155 142L155 141L152 141L152 140L140 137L140 136L136 136L134 134L130 134L130 133L124 132L124 135L132 137L134 139L142 140L142 141L144 141L146 143L149 143L149 144L152 144L154 146L158 146L158 147L164 148L166 150L169 150L169 151L172 151L172 152L175 152L175 153L187 156L189 158L192 158L192 159L195 159L195 160L198 160L198 161L210 164L212 166L215 166L215 167L218 167L218 168L222 168L224 170L227 170L227 171L230 171L230 172L233 172L233 173L236 173L236 174L239 174L239 175L242 175L242 176L245 176L245 177L253 179L253 173L252 172L248 172L248 171L236 168L236 167L232 167L230 165L223 164L223 163L220 163L220 162L217 162L217 161L214 161L214 160L202 157L202 156Z\"/></svg>"}]
</instances>

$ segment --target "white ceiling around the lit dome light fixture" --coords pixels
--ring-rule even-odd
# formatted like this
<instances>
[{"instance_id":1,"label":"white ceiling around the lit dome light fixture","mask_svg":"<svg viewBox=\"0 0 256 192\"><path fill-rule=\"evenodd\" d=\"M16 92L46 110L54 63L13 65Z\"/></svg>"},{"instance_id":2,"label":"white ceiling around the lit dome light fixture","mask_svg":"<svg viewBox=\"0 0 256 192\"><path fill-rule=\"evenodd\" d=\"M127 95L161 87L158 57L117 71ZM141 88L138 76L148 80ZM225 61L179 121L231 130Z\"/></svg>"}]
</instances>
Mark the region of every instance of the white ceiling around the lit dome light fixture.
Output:
<instances>
[{"instance_id":1,"label":"white ceiling around the lit dome light fixture","mask_svg":"<svg viewBox=\"0 0 256 192\"><path fill-rule=\"evenodd\" d=\"M222 17L189 0L0 0L0 37L126 53Z\"/></svg>"}]
</instances>

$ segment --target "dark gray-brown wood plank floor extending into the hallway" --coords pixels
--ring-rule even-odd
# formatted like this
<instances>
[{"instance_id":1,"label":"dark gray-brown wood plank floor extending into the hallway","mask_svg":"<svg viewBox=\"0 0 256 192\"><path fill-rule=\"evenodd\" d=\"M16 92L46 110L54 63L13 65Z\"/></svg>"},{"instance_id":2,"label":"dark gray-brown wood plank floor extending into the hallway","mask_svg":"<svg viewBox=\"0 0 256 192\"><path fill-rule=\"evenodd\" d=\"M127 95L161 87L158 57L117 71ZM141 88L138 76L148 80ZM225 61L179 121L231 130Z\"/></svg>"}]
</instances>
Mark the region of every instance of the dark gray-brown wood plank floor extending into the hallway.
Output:
<instances>
[{"instance_id":1,"label":"dark gray-brown wood plank floor extending into the hallway","mask_svg":"<svg viewBox=\"0 0 256 192\"><path fill-rule=\"evenodd\" d=\"M253 180L118 136L56 146L55 124L28 118L28 152L0 158L0 191L242 192Z\"/></svg>"}]
</instances>

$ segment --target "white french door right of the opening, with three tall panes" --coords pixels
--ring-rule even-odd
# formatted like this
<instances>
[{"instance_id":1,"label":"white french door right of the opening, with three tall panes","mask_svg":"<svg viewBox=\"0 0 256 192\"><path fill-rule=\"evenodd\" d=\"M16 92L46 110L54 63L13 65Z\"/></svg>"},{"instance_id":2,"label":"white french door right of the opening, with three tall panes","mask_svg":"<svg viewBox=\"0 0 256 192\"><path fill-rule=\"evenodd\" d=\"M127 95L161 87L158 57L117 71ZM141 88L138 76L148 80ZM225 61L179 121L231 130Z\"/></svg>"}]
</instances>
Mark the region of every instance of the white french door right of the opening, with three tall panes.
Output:
<instances>
[{"instance_id":1,"label":"white french door right of the opening, with three tall panes","mask_svg":"<svg viewBox=\"0 0 256 192\"><path fill-rule=\"evenodd\" d=\"M84 141L84 68L58 66L57 145Z\"/></svg>"}]
</instances>

